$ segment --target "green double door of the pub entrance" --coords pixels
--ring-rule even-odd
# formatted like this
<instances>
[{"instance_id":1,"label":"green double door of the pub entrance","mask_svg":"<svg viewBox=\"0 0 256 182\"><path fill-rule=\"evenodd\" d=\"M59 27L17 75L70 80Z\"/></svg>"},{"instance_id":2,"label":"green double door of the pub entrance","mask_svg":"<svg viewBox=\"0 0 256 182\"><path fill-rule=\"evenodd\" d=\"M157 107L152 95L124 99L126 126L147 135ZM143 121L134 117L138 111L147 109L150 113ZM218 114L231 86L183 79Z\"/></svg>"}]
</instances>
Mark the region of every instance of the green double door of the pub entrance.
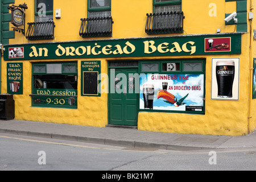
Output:
<instances>
[{"instance_id":1,"label":"green double door of the pub entrance","mask_svg":"<svg viewBox=\"0 0 256 182\"><path fill-rule=\"evenodd\" d=\"M138 68L110 69L109 73L109 124L137 126Z\"/></svg>"}]
</instances>

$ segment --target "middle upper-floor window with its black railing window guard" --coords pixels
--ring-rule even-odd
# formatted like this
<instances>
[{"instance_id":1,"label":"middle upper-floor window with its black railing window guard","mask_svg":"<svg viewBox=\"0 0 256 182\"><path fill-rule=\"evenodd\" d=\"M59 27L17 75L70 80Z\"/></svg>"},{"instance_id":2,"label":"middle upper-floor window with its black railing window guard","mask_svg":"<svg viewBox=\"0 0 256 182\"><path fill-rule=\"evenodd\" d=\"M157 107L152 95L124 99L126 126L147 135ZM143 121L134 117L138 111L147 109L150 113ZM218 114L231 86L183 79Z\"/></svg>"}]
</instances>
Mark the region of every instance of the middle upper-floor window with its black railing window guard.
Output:
<instances>
[{"instance_id":1,"label":"middle upper-floor window with its black railing window guard","mask_svg":"<svg viewBox=\"0 0 256 182\"><path fill-rule=\"evenodd\" d=\"M89 0L88 18L81 19L80 36L112 36L110 0Z\"/></svg>"}]
</instances>

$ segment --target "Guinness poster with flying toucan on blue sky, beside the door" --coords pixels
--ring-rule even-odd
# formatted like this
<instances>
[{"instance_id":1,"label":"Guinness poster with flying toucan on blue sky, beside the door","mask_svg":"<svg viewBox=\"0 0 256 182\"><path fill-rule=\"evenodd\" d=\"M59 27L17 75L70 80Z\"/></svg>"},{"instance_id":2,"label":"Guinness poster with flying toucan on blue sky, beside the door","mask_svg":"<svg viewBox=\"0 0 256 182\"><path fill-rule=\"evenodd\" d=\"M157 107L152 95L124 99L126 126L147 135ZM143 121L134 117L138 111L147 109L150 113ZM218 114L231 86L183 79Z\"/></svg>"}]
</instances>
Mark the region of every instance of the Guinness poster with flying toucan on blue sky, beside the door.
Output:
<instances>
[{"instance_id":1,"label":"Guinness poster with flying toucan on blue sky, beside the door","mask_svg":"<svg viewBox=\"0 0 256 182\"><path fill-rule=\"evenodd\" d=\"M204 113L204 74L141 74L139 109Z\"/></svg>"}]
</instances>

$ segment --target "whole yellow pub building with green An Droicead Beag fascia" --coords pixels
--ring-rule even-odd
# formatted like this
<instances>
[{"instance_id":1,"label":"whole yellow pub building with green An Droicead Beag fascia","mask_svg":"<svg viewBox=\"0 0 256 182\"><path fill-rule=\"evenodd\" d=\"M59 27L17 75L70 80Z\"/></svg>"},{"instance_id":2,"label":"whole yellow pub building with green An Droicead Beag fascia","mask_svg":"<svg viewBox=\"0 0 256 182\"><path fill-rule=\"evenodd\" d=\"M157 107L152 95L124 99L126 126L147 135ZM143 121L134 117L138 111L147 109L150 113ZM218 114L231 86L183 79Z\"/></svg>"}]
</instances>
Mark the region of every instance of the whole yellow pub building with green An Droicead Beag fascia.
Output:
<instances>
[{"instance_id":1,"label":"whole yellow pub building with green An Droicead Beag fascia","mask_svg":"<svg viewBox=\"0 0 256 182\"><path fill-rule=\"evenodd\" d=\"M254 0L1 7L10 17L1 97L13 96L14 119L204 135L256 128Z\"/></svg>"}]
</instances>

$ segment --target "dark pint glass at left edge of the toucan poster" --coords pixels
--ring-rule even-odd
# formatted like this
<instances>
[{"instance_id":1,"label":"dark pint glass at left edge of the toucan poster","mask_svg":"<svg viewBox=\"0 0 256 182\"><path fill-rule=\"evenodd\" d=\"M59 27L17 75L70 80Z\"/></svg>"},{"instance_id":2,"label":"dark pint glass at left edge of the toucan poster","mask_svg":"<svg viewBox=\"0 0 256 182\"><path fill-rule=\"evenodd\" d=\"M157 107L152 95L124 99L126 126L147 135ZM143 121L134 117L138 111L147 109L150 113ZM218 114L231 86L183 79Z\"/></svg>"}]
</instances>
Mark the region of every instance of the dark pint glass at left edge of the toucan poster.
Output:
<instances>
[{"instance_id":1,"label":"dark pint glass at left edge of the toucan poster","mask_svg":"<svg viewBox=\"0 0 256 182\"><path fill-rule=\"evenodd\" d=\"M144 84L143 85L143 98L144 98L144 109L153 109L154 100L154 85Z\"/></svg>"}]
</instances>

